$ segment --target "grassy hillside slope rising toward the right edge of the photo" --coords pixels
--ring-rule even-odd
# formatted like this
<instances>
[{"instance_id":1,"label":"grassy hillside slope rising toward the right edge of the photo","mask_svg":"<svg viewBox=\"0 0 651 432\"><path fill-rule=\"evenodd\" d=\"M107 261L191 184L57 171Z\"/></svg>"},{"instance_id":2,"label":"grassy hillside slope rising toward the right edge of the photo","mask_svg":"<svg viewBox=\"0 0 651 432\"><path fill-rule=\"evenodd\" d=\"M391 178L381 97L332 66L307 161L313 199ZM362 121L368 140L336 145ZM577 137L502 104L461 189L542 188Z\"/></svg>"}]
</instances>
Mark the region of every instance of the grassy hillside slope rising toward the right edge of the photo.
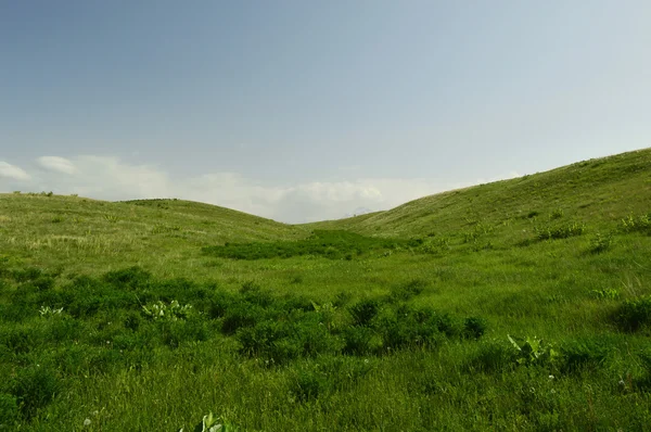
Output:
<instances>
[{"instance_id":1,"label":"grassy hillside slope rising toward the right edge of the photo","mask_svg":"<svg viewBox=\"0 0 651 432\"><path fill-rule=\"evenodd\" d=\"M651 149L579 162L512 180L459 189L411 201L396 208L306 228L346 229L365 234L446 236L477 225L516 232L562 213L600 228L651 207ZM511 238L511 239L509 239Z\"/></svg>"}]
</instances>

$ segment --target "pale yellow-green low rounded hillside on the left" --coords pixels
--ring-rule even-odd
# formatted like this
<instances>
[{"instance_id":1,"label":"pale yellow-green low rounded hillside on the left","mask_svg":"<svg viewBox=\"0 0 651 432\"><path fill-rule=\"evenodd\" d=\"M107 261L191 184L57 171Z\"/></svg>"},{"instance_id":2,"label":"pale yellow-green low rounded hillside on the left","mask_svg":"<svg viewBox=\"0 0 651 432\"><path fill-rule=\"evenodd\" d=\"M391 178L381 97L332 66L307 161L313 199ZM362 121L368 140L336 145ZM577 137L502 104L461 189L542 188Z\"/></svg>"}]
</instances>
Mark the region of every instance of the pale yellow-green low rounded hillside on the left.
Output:
<instances>
[{"instance_id":1,"label":"pale yellow-green low rounded hillside on the left","mask_svg":"<svg viewBox=\"0 0 651 432\"><path fill-rule=\"evenodd\" d=\"M299 227L181 200L112 203L43 193L0 194L1 254L22 264L65 265L75 271L136 264L174 271L192 267L206 244L305 236Z\"/></svg>"}]
</instances>

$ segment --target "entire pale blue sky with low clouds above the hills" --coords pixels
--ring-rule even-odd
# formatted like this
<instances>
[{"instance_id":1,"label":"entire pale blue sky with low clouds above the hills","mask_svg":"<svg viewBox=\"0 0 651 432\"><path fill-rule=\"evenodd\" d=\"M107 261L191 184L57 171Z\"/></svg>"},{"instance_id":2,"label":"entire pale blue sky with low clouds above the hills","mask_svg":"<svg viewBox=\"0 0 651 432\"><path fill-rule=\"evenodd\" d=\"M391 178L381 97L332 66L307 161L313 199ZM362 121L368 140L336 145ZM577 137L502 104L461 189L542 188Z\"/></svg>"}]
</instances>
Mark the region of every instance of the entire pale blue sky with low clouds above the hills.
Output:
<instances>
[{"instance_id":1,"label":"entire pale blue sky with low clouds above the hills","mask_svg":"<svg viewBox=\"0 0 651 432\"><path fill-rule=\"evenodd\" d=\"M0 191L284 223L651 147L651 2L0 0Z\"/></svg>"}]
</instances>

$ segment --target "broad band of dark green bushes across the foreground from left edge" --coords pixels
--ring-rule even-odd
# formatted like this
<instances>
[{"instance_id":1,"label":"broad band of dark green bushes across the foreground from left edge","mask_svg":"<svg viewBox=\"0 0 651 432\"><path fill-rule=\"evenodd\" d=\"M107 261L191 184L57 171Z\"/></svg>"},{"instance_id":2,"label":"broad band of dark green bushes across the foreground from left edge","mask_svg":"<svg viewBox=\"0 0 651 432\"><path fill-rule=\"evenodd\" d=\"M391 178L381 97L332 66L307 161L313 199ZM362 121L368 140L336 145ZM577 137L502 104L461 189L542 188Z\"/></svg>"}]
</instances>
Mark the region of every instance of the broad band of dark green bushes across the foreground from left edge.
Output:
<instances>
[{"instance_id":1,"label":"broad band of dark green bushes across the foreground from left edge","mask_svg":"<svg viewBox=\"0 0 651 432\"><path fill-rule=\"evenodd\" d=\"M349 305L350 294L341 293L319 305L253 282L228 292L155 280L138 267L72 279L2 268L0 281L12 289L0 291L0 371L13 377L0 383L2 424L34 417L72 376L140 370L161 353L214 338L233 336L242 356L268 366L316 361L301 369L292 387L297 401L309 401L367 373L360 356L433 348L486 330L480 318L408 305L427 287L422 280L398 284L383 297Z\"/></svg>"}]
</instances>

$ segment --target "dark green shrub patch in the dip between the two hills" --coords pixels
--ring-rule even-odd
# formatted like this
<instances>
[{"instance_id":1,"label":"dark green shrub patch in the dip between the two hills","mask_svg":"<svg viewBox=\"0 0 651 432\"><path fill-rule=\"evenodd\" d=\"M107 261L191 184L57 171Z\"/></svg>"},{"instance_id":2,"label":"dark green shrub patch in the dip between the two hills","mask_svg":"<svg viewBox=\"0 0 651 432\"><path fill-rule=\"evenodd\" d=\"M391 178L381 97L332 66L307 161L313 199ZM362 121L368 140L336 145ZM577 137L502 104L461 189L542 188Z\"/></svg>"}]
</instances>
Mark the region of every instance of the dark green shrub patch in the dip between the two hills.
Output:
<instances>
[{"instance_id":1,"label":"dark green shrub patch in the dip between the two hills","mask_svg":"<svg viewBox=\"0 0 651 432\"><path fill-rule=\"evenodd\" d=\"M420 242L419 242L420 241ZM315 255L330 259L352 259L369 252L418 247L422 239L397 240L366 237L347 231L315 230L307 239L297 241L227 243L204 247L204 253L231 259L290 258Z\"/></svg>"}]
</instances>

